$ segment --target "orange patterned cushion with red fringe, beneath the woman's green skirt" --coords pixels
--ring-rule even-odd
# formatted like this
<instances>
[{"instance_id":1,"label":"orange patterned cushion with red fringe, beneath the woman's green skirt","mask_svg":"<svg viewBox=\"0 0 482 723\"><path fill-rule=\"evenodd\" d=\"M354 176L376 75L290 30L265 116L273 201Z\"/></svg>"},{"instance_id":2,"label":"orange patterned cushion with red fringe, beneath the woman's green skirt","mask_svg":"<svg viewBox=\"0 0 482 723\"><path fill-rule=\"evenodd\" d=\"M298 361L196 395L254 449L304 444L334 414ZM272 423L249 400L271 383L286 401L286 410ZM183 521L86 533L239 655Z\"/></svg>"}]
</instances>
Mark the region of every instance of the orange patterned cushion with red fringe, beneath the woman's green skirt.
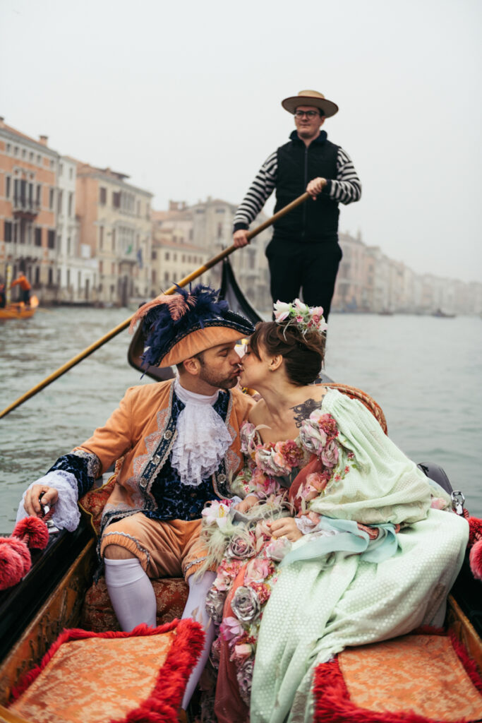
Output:
<instances>
[{"instance_id":1,"label":"orange patterned cushion with red fringe, beneath the woman's green skirt","mask_svg":"<svg viewBox=\"0 0 482 723\"><path fill-rule=\"evenodd\" d=\"M408 635L347 648L315 671L314 723L461 723L482 716L482 680L458 641Z\"/></svg>"}]
</instances>

